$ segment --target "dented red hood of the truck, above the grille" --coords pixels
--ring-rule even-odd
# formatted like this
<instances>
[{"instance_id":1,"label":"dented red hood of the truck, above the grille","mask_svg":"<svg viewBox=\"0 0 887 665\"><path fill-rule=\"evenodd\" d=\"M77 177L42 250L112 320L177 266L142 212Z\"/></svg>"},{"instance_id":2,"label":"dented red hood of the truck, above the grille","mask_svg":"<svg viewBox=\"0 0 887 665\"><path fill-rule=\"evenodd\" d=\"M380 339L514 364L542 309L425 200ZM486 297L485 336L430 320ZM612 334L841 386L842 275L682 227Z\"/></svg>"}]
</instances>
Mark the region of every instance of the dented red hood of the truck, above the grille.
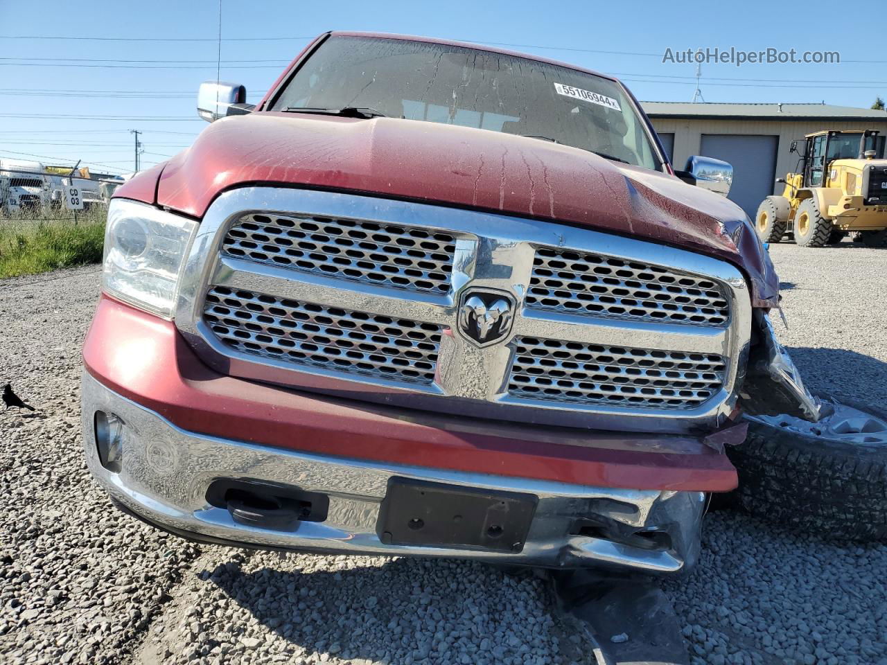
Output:
<instances>
[{"instance_id":1,"label":"dented red hood of the truck, above the grille","mask_svg":"<svg viewBox=\"0 0 887 665\"><path fill-rule=\"evenodd\" d=\"M216 121L170 160L156 202L200 217L220 192L259 183L435 201L649 239L726 259L750 279L757 307L778 301L773 265L734 203L565 145L434 122L252 113Z\"/></svg>"}]
</instances>

